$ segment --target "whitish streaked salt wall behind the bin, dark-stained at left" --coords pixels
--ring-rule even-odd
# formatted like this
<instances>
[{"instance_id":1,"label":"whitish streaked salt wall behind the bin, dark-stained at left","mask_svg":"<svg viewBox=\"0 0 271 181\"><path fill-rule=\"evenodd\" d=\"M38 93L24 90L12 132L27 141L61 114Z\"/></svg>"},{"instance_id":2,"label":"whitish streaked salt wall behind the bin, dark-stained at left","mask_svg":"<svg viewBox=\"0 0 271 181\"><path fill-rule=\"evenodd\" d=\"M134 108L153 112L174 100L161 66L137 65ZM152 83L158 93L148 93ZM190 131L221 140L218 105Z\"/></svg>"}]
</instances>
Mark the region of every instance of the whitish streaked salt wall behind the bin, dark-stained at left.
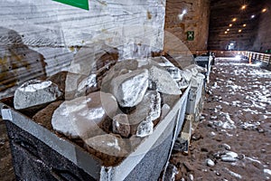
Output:
<instances>
[{"instance_id":1,"label":"whitish streaked salt wall behind the bin, dark-stained at left","mask_svg":"<svg viewBox=\"0 0 271 181\"><path fill-rule=\"evenodd\" d=\"M69 70L89 43L93 51L121 45L123 58L135 49L130 43L158 50L164 44L165 0L95 0L89 11L51 0L5 0L0 14L0 97L23 81Z\"/></svg>"}]
</instances>

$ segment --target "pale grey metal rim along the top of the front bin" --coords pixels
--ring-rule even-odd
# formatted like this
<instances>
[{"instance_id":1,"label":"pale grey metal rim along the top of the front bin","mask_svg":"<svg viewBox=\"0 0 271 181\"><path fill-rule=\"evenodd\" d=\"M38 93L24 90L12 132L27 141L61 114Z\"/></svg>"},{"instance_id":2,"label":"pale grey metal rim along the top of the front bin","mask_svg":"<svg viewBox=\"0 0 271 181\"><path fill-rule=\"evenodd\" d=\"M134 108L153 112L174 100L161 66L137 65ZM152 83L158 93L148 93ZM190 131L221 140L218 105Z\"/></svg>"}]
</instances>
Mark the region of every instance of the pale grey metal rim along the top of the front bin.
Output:
<instances>
[{"instance_id":1,"label":"pale grey metal rim along the top of the front bin","mask_svg":"<svg viewBox=\"0 0 271 181\"><path fill-rule=\"evenodd\" d=\"M154 128L154 133L145 138L142 143L117 167L103 167L98 159L75 145L69 140L58 137L49 129L43 128L32 119L24 116L22 113L8 107L0 102L2 118L13 122L19 128L31 133L34 137L39 138L43 143L57 151L63 157L68 158L71 162L82 168L95 179L105 178L105 180L124 179L133 168L141 161L147 151L154 145L154 142L162 135L164 129L173 121L174 115L181 110L183 102L188 98L190 86L183 92L182 97L178 100L173 109L164 117L163 120ZM5 106L5 108L4 108ZM186 105L183 105L186 106ZM176 124L176 122L173 122ZM176 124L182 127L180 124ZM90 156L90 157L89 157ZM89 167L91 165L92 167ZM93 167L95 166L95 167ZM125 171L124 171L125 170Z\"/></svg>"}]
</instances>

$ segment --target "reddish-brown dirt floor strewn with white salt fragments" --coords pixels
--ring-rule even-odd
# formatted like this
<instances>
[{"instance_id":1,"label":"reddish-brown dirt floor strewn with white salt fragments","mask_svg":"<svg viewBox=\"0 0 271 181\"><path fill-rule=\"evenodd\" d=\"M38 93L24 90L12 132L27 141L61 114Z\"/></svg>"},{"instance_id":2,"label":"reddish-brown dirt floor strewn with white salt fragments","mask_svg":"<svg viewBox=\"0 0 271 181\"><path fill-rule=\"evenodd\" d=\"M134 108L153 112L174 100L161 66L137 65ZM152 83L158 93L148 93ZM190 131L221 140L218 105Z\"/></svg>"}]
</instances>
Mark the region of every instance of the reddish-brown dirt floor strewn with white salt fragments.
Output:
<instances>
[{"instance_id":1,"label":"reddish-brown dirt floor strewn with white salt fragments","mask_svg":"<svg viewBox=\"0 0 271 181\"><path fill-rule=\"evenodd\" d=\"M271 179L271 71L217 59L188 156L173 153L175 180ZM0 180L14 180L0 119Z\"/></svg>"}]
</instances>

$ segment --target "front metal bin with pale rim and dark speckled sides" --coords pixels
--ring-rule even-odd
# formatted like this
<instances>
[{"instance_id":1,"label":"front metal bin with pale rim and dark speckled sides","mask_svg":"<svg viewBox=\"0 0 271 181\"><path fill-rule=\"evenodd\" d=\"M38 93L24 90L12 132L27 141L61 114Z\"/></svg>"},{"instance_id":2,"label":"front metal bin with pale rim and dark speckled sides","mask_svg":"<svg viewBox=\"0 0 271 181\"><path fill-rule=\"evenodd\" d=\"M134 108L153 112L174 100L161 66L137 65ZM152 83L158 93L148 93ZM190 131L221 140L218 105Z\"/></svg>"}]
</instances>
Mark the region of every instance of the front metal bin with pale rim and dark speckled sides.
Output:
<instances>
[{"instance_id":1,"label":"front metal bin with pale rim and dark speckled sides","mask_svg":"<svg viewBox=\"0 0 271 181\"><path fill-rule=\"evenodd\" d=\"M116 167L70 140L60 138L22 113L0 102L6 121L17 180L157 180L182 129L190 87L154 128L152 135Z\"/></svg>"}]
</instances>

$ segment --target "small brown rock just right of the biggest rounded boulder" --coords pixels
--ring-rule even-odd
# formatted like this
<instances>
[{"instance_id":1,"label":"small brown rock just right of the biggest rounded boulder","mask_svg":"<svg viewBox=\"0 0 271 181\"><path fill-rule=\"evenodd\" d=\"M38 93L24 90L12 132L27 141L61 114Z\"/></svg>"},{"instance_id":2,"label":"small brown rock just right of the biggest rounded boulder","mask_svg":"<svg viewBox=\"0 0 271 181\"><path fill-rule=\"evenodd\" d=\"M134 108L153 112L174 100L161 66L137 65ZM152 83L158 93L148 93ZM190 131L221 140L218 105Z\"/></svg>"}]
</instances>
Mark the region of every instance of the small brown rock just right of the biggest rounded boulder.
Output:
<instances>
[{"instance_id":1,"label":"small brown rock just right of the biggest rounded boulder","mask_svg":"<svg viewBox=\"0 0 271 181\"><path fill-rule=\"evenodd\" d=\"M113 133L127 138L130 134L130 124L126 114L117 114L113 118Z\"/></svg>"}]
</instances>

